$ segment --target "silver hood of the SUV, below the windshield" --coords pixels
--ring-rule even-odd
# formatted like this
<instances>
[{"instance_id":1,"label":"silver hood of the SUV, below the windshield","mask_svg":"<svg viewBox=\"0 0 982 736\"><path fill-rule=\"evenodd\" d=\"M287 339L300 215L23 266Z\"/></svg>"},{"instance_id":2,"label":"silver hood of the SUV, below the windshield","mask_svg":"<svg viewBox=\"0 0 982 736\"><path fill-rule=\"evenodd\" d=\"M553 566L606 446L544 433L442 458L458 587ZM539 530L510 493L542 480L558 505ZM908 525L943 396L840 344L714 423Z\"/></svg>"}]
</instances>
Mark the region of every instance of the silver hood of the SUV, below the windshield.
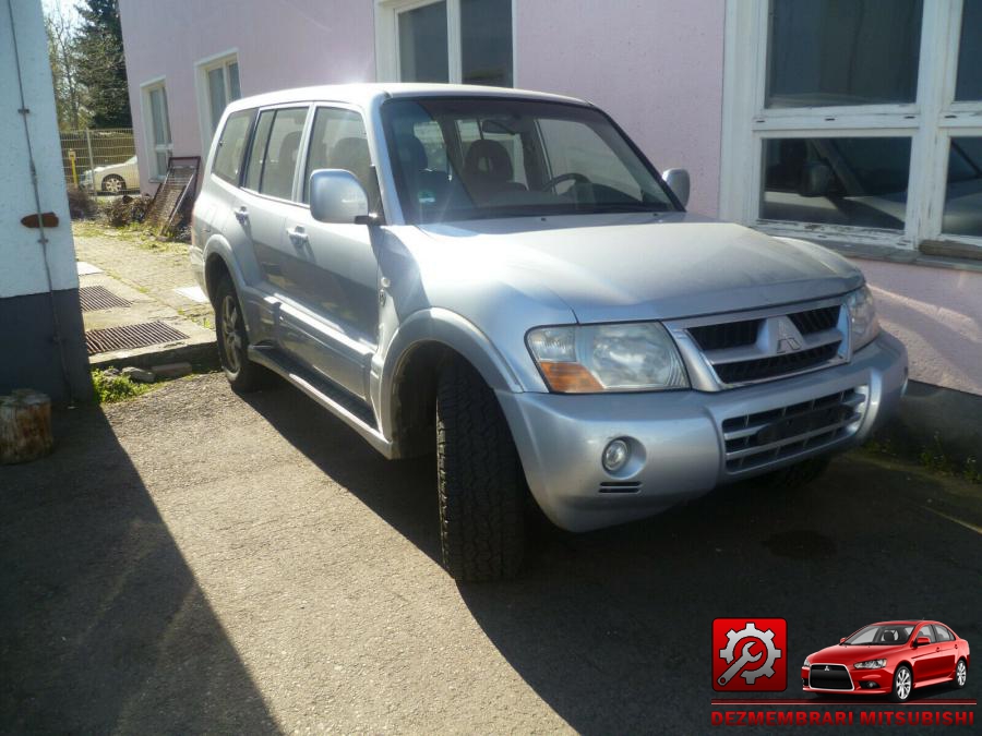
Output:
<instances>
[{"instance_id":1,"label":"silver hood of the SUV, below the windshield","mask_svg":"<svg viewBox=\"0 0 982 736\"><path fill-rule=\"evenodd\" d=\"M848 261L813 243L687 213L526 217L420 230L447 246L454 261L516 282L539 281L582 323L750 310L840 294L863 281Z\"/></svg>"}]
</instances>

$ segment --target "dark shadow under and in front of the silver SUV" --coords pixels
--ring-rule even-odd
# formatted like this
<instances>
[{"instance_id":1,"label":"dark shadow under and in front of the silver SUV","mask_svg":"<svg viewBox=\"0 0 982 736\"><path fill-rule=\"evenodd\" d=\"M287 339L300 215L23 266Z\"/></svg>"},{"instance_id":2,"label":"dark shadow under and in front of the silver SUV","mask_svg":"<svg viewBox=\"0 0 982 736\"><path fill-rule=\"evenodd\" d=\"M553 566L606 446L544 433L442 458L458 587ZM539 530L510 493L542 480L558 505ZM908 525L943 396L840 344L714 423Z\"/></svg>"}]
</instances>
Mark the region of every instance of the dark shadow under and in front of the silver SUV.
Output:
<instances>
[{"instance_id":1,"label":"dark shadow under and in front of the silver SUV","mask_svg":"<svg viewBox=\"0 0 982 736\"><path fill-rule=\"evenodd\" d=\"M386 461L286 386L243 398L439 560L432 458ZM458 589L515 672L576 731L697 733L720 695L710 674L716 617L788 620L787 698L803 696L807 654L874 620L931 617L982 635L982 590L967 586L982 572L982 540L926 510L943 496L936 481L847 456L797 491L721 487L587 534L540 521L518 580ZM958 692L972 688L970 678Z\"/></svg>"}]
</instances>

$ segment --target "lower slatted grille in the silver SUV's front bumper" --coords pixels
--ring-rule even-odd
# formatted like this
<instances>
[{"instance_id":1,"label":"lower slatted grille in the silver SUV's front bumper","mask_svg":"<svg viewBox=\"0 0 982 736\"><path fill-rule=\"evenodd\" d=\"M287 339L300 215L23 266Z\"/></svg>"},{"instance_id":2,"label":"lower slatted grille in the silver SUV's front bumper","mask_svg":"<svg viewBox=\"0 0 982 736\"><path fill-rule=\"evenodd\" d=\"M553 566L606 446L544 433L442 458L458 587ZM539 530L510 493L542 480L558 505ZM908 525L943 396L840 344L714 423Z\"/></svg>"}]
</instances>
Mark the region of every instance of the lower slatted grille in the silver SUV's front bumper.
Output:
<instances>
[{"instance_id":1,"label":"lower slatted grille in the silver SUV's front bumper","mask_svg":"<svg viewBox=\"0 0 982 736\"><path fill-rule=\"evenodd\" d=\"M724 420L727 471L753 470L851 436L863 418L865 400L864 389L850 388Z\"/></svg>"}]
</instances>

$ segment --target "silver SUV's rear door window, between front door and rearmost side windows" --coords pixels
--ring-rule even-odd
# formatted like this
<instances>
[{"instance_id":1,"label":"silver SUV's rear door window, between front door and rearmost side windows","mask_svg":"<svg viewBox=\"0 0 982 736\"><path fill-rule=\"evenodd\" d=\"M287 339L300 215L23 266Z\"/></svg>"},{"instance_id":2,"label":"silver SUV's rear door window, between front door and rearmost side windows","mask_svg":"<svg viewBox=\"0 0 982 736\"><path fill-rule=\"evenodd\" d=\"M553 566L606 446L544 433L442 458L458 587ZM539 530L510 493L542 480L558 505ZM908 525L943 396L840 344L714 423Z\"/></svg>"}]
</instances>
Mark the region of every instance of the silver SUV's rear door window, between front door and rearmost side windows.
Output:
<instances>
[{"instance_id":1,"label":"silver SUV's rear door window, between front door and rearmost side windows","mask_svg":"<svg viewBox=\"0 0 982 736\"><path fill-rule=\"evenodd\" d=\"M247 189L290 198L306 121L306 107L265 110L260 114L246 172Z\"/></svg>"}]
</instances>

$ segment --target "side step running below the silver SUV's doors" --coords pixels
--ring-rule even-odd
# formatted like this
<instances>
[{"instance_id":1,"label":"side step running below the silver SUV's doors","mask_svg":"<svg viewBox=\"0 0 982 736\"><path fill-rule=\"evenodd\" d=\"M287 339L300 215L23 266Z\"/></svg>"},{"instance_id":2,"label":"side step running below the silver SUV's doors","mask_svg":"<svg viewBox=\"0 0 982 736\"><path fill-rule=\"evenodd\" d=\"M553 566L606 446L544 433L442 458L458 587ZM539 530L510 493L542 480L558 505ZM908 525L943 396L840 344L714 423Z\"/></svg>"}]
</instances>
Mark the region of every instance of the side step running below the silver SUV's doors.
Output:
<instances>
[{"instance_id":1,"label":"side step running below the silver SUV's doors","mask_svg":"<svg viewBox=\"0 0 982 736\"><path fill-rule=\"evenodd\" d=\"M386 458L392 458L393 447L374 426L371 407L326 378L302 366L277 348L249 346L249 360L263 365L286 378L324 409L360 434Z\"/></svg>"}]
</instances>

